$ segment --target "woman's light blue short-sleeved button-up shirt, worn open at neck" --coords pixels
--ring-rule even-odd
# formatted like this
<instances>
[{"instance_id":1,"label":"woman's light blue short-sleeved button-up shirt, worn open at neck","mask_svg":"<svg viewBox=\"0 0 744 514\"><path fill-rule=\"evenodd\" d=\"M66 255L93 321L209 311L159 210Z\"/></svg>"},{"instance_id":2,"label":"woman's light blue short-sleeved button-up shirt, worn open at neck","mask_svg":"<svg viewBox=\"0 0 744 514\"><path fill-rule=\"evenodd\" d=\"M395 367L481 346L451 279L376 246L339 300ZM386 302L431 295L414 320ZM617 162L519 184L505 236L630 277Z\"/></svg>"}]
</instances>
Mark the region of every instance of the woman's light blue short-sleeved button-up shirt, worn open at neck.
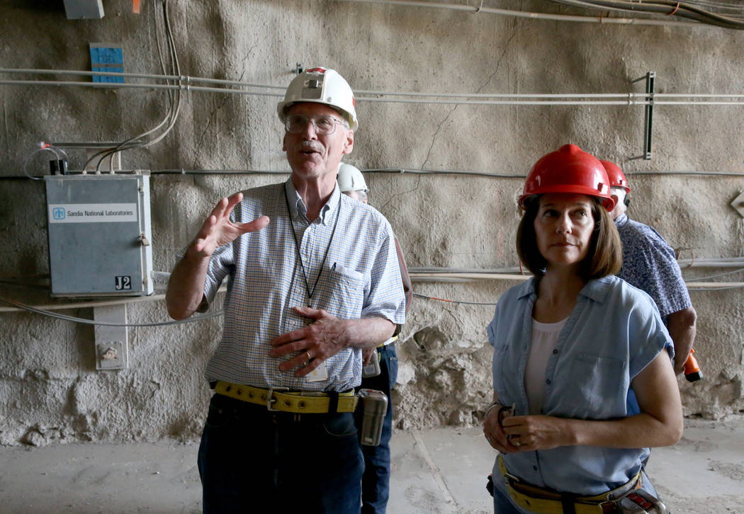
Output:
<instances>
[{"instance_id":1,"label":"woman's light blue short-sleeved button-up shirt, worn open at neck","mask_svg":"<svg viewBox=\"0 0 744 514\"><path fill-rule=\"evenodd\" d=\"M505 292L487 327L494 348L493 389L504 405L516 404L519 416L529 414L525 366L535 287L532 278ZM618 277L591 280L581 290L548 359L542 414L581 420L638 414L627 402L630 382L664 347L673 354L649 295ZM530 484L597 495L629 481L648 454L648 449L562 446L505 454L504 463L511 474ZM494 473L499 476L498 467Z\"/></svg>"}]
</instances>

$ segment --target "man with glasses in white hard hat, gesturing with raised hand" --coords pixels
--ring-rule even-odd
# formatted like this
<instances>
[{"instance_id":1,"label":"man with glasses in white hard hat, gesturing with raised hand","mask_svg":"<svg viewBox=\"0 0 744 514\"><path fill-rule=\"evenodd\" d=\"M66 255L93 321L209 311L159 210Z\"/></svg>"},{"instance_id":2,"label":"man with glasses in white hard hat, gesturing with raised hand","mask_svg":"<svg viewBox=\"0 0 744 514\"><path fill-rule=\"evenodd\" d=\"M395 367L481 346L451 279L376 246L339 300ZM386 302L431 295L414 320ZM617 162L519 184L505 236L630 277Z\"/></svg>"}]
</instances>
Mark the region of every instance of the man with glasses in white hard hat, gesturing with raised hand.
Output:
<instances>
[{"instance_id":1,"label":"man with glasses in white hard hat, gesturing with raised hand","mask_svg":"<svg viewBox=\"0 0 744 514\"><path fill-rule=\"evenodd\" d=\"M362 350L405 321L393 231L336 184L358 125L346 80L302 72L278 115L292 176L220 200L168 284L182 319L230 278L205 373L204 512L359 513Z\"/></svg>"}]
</instances>

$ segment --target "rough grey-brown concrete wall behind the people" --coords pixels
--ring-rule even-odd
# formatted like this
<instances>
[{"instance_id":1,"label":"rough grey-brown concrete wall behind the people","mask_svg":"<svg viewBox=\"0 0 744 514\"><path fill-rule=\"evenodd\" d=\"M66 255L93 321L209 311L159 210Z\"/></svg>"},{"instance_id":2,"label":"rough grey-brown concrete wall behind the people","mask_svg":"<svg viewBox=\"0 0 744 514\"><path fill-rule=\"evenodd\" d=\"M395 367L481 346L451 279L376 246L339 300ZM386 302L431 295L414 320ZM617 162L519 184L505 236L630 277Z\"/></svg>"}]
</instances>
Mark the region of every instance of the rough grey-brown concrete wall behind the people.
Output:
<instances>
[{"instance_id":1,"label":"rough grey-brown concrete wall behind the people","mask_svg":"<svg viewBox=\"0 0 744 514\"><path fill-rule=\"evenodd\" d=\"M741 93L744 79L744 34L710 26L551 22L338 1L170 3L182 74L195 77L286 85L302 62L336 68L354 89L376 91L629 92L642 91L629 80L655 71L660 92ZM496 3L486 2L565 12L545 2ZM0 7L2 66L86 70L89 42L121 42L126 71L160 72L159 2L143 2L141 15L126 2L104 2L106 17L95 21L68 21L61 4ZM141 89L0 86L0 99L0 176L20 175L37 141L120 141L155 126L167 106L164 92ZM275 103L272 97L185 93L170 135L125 153L124 167L287 170ZM743 222L728 206L743 188L741 176L634 175L743 173L743 107L657 106L651 161L629 159L641 153L638 106L359 102L358 109L350 164L513 177L369 174L371 202L396 229L408 266L516 266L514 198L522 177L539 156L568 142L618 162L632 181L632 217L654 225L674 247L692 248L696 258L744 254ZM71 169L83 161L71 152ZM39 156L29 162L33 173L45 166ZM221 196L285 177L153 176L155 269L170 270ZM43 184L0 184L0 277L47 274ZM692 269L685 276L713 272L719 270ZM0 282L6 298L50 301L43 280L34 282L41 289L7 282ZM414 289L495 302L513 283L415 283ZM742 289L693 292L695 346L707 379L694 385L680 379L688 415L716 418L744 409L741 295ZM62 312L92 315L91 309ZM167 319L158 301L128 312L134 323ZM414 301L399 346L394 400L400 427L477 423L490 397L484 327L492 313L492 306ZM18 312L0 312L0 324L0 444L199 434L209 396L202 371L219 338L219 319L130 330L130 367L114 372L95 370L92 327Z\"/></svg>"}]
</instances>

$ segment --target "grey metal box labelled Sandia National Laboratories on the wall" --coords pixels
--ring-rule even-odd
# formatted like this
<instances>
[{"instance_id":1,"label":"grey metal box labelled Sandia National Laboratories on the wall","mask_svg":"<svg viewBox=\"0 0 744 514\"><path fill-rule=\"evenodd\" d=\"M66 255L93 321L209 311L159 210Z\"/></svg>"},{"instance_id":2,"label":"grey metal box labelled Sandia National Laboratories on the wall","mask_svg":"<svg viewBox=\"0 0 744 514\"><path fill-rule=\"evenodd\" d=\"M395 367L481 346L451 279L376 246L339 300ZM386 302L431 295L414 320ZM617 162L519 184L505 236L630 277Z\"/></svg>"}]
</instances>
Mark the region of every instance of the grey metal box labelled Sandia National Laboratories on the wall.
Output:
<instances>
[{"instance_id":1,"label":"grey metal box labelled Sandia National Laboratories on the wall","mask_svg":"<svg viewBox=\"0 0 744 514\"><path fill-rule=\"evenodd\" d=\"M45 176L51 295L153 293L150 175Z\"/></svg>"}]
</instances>

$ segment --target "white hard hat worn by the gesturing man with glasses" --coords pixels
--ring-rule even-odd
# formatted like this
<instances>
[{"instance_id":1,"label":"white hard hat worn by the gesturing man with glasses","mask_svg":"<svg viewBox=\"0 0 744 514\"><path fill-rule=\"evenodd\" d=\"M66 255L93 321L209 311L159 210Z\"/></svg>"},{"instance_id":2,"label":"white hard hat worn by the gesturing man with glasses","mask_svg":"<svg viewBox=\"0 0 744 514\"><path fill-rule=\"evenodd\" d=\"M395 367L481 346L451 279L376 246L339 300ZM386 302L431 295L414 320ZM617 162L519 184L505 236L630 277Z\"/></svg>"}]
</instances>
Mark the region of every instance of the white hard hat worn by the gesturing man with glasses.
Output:
<instances>
[{"instance_id":1,"label":"white hard hat worn by the gesturing man with glasses","mask_svg":"<svg viewBox=\"0 0 744 514\"><path fill-rule=\"evenodd\" d=\"M298 102L324 103L339 111L352 130L359 126L354 109L354 93L336 70L310 68L292 79L286 88L284 100L277 104L282 123L292 104Z\"/></svg>"}]
</instances>

